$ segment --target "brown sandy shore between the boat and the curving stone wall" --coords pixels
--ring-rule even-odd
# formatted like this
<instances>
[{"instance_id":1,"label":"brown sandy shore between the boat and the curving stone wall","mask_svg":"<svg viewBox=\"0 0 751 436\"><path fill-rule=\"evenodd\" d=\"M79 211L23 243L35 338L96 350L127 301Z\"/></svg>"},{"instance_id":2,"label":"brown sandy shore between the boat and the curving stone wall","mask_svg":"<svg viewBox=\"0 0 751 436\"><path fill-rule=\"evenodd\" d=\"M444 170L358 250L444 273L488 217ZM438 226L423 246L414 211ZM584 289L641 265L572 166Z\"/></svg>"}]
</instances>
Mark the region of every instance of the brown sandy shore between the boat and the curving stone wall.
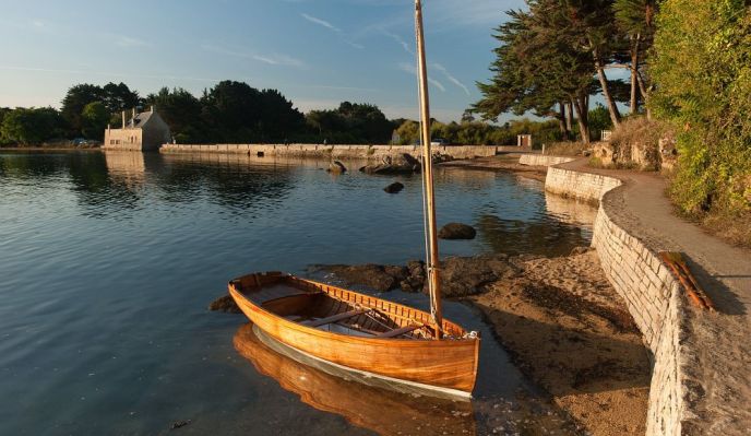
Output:
<instances>
[{"instance_id":1,"label":"brown sandy shore between the boat and the curving stone wall","mask_svg":"<svg viewBox=\"0 0 751 436\"><path fill-rule=\"evenodd\" d=\"M591 434L644 434L647 351L596 254L515 263L469 299L520 369Z\"/></svg>"}]
</instances>

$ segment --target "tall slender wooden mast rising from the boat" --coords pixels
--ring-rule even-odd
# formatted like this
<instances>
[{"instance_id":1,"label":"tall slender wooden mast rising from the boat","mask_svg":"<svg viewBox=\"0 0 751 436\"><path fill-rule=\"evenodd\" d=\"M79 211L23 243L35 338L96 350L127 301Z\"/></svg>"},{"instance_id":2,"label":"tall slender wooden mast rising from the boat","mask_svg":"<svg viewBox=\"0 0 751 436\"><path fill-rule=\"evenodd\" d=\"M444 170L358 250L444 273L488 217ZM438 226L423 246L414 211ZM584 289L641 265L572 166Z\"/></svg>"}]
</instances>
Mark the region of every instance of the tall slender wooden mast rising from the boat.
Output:
<instances>
[{"instance_id":1,"label":"tall slender wooden mast rising from the boat","mask_svg":"<svg viewBox=\"0 0 751 436\"><path fill-rule=\"evenodd\" d=\"M420 93L420 125L422 138L422 184L425 188L426 232L428 234L428 290L430 315L436 328L436 339L441 339L443 314L441 310L441 282L439 276L438 233L436 231L436 197L433 195L432 153L430 150L430 99L428 97L428 70L425 61L425 35L422 32L422 2L415 0L415 31L417 34L417 75Z\"/></svg>"}]
</instances>

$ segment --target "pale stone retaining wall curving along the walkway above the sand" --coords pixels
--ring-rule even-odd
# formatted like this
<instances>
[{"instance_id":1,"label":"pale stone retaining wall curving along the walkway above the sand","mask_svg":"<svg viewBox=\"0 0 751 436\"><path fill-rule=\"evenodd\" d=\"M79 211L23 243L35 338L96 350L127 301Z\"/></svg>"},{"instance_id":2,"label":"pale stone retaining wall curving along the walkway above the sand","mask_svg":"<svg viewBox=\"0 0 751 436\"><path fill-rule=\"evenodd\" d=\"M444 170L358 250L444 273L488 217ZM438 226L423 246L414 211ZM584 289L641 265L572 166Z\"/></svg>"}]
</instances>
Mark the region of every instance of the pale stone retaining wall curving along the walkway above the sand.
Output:
<instances>
[{"instance_id":1,"label":"pale stone retaining wall curving along the walkway above the sand","mask_svg":"<svg viewBox=\"0 0 751 436\"><path fill-rule=\"evenodd\" d=\"M690 411L682 362L689 350L681 338L687 330L686 299L680 284L657 252L629 234L613 219L613 201L621 180L560 167L548 168L546 190L567 197L599 201L592 246L605 274L625 299L629 311L652 351L652 382L646 434L681 435ZM622 189L622 188L621 188Z\"/></svg>"}]
</instances>

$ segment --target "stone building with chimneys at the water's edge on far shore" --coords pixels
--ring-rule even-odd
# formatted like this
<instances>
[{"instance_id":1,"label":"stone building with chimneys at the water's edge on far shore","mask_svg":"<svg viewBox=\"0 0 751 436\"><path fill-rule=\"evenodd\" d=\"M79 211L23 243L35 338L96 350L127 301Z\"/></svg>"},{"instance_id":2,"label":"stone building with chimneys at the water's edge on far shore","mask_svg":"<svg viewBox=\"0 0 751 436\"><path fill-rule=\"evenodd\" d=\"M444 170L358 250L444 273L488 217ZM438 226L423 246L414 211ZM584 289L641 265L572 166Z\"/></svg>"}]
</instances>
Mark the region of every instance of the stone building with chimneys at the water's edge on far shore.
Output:
<instances>
[{"instance_id":1,"label":"stone building with chimneys at the water's edge on far shore","mask_svg":"<svg viewBox=\"0 0 751 436\"><path fill-rule=\"evenodd\" d=\"M146 113L136 114L126 123L126 113L122 111L122 128L105 130L105 150L156 151L162 144L171 141L169 126L154 110L154 106Z\"/></svg>"}]
</instances>

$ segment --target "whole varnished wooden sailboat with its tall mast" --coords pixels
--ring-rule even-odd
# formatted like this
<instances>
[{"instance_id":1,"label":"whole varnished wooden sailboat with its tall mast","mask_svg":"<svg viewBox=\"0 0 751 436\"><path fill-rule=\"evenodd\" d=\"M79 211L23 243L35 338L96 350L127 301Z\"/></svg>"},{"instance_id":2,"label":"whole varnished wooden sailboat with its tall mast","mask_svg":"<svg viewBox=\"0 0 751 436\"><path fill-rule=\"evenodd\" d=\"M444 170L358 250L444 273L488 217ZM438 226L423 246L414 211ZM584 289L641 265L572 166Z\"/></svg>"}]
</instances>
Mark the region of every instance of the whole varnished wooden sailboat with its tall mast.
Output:
<instances>
[{"instance_id":1,"label":"whole varnished wooden sailboat with its tall mast","mask_svg":"<svg viewBox=\"0 0 751 436\"><path fill-rule=\"evenodd\" d=\"M430 314L281 272L235 279L229 293L264 333L310 358L467 398L477 376L479 338L442 317L420 0L415 23Z\"/></svg>"}]
</instances>

